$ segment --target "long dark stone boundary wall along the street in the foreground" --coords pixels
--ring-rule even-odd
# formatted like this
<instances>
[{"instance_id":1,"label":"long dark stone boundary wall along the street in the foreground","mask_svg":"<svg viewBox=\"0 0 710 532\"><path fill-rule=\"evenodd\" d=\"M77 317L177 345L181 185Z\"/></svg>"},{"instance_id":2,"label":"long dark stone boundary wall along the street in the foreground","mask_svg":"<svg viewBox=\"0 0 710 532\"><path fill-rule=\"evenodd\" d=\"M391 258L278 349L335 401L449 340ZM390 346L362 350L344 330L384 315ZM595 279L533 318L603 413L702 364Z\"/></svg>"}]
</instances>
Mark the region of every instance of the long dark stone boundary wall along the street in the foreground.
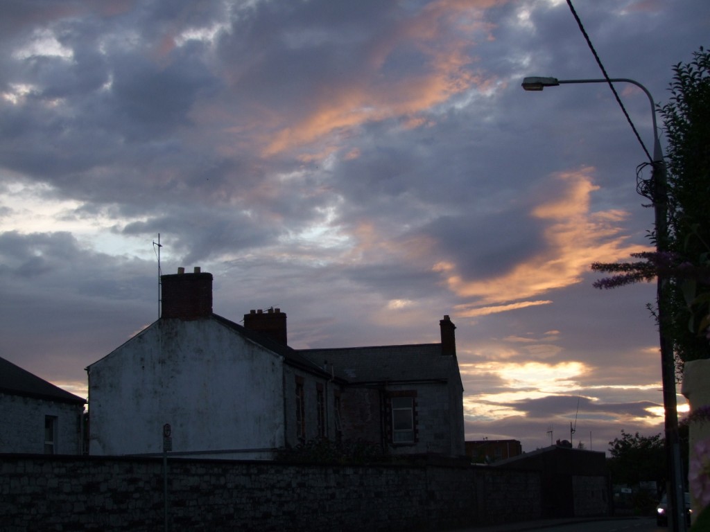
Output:
<instances>
[{"instance_id":1,"label":"long dark stone boundary wall along the street in the foreground","mask_svg":"<svg viewBox=\"0 0 710 532\"><path fill-rule=\"evenodd\" d=\"M168 459L180 531L441 531L540 516L535 472ZM0 455L2 532L160 531L160 458Z\"/></svg>"}]
</instances>

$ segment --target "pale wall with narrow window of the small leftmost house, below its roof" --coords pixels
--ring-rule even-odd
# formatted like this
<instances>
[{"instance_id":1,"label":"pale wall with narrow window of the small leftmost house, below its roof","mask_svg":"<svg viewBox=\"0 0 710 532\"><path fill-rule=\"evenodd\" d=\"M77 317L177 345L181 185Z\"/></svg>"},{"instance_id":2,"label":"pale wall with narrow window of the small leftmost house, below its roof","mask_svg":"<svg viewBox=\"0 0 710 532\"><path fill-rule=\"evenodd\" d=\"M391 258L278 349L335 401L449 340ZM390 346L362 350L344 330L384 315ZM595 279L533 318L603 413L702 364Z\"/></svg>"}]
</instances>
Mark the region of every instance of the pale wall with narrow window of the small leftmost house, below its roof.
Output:
<instances>
[{"instance_id":1,"label":"pale wall with narrow window of the small leftmost house, below its roof","mask_svg":"<svg viewBox=\"0 0 710 532\"><path fill-rule=\"evenodd\" d=\"M0 453L44 453L45 416L56 416L55 454L82 453L84 406L0 393Z\"/></svg>"}]
</instances>

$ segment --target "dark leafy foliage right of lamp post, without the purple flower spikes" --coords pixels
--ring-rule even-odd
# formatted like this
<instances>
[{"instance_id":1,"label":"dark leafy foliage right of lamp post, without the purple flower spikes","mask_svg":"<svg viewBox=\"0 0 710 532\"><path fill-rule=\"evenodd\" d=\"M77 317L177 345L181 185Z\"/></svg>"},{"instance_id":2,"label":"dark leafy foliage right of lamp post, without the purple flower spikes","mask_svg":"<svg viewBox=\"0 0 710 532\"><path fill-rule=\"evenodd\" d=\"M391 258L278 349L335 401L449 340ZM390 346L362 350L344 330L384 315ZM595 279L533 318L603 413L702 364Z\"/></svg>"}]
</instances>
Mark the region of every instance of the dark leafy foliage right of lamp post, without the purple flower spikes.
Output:
<instances>
[{"instance_id":1,"label":"dark leafy foliage right of lamp post, without the purple flower spikes","mask_svg":"<svg viewBox=\"0 0 710 532\"><path fill-rule=\"evenodd\" d=\"M668 168L669 249L694 267L707 269L710 253L710 52L700 48L687 65L673 69L670 101L661 107ZM710 357L704 333L710 284L671 279L669 324L674 353L683 362Z\"/></svg>"}]
</instances>

